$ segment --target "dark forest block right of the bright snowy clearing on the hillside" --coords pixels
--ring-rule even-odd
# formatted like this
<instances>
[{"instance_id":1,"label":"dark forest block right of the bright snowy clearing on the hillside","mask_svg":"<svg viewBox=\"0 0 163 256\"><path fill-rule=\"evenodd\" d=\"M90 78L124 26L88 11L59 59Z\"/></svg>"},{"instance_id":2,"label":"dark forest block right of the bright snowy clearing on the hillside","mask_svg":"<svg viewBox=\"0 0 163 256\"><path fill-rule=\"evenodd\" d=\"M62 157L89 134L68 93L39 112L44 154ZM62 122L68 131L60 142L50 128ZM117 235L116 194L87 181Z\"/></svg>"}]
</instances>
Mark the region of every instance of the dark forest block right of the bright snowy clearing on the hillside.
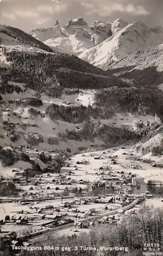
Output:
<instances>
[{"instance_id":1,"label":"dark forest block right of the bright snowy clearing on the hillside","mask_svg":"<svg viewBox=\"0 0 163 256\"><path fill-rule=\"evenodd\" d=\"M95 106L105 111L138 112L153 116L157 113L163 117L162 100L163 94L157 89L114 86L96 93Z\"/></svg>"}]
</instances>

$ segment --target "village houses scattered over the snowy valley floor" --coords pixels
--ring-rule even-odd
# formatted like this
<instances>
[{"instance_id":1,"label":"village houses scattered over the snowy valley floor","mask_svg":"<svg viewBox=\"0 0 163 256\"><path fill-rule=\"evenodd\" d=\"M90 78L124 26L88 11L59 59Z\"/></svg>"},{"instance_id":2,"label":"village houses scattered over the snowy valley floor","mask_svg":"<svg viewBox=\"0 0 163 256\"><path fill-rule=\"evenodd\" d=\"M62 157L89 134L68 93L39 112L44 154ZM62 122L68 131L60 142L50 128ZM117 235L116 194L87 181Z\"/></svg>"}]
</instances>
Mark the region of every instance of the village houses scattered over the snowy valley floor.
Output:
<instances>
[{"instance_id":1,"label":"village houses scattered over the snowy valley floor","mask_svg":"<svg viewBox=\"0 0 163 256\"><path fill-rule=\"evenodd\" d=\"M105 155L105 152L103 152L103 155ZM25 193L22 193L19 202L21 201L21 205L28 204L30 211L28 212L28 215L26 215L28 218L24 216L24 212L17 212L19 218L16 220L16 224L26 225L30 222L31 218L34 218L34 221L40 220L40 223L42 221L42 224L39 225L46 225L49 227L51 227L51 225L58 225L58 222L66 223L66 221L72 221L74 222L75 227L85 228L96 225L97 221L99 223L119 224L122 221L122 218L125 218L128 214L136 214L138 206L128 210L124 210L122 207L128 207L128 205L130 205L141 193L140 197L142 198L150 198L151 195L147 193L147 184L143 177L127 172L127 170L122 170L121 168L114 169L114 167L118 167L116 166L118 164L117 158L117 155L109 158L110 165L106 164L97 169L95 175L98 177L94 182L87 182L83 179L76 180L74 178L75 170L78 170L77 165L88 164L88 161L78 161L76 162L77 165L73 166L74 171L69 168L62 174L47 174L45 176L35 175L35 177L30 178L17 176L17 178L14 178L16 179L15 183L17 182L19 185L25 186L30 184L30 190L33 190L34 187L35 189L36 187L39 189L38 194L36 192L32 193L32 191L25 191ZM94 159L98 160L101 159L101 157L97 156L94 157ZM66 167L70 166L67 164ZM134 169L137 167L133 165L131 168ZM61 185L66 185L66 187L69 185L71 187L71 185L74 184L77 184L78 186L80 184L88 183L92 186L95 185L95 188L101 186L101 184L104 184L102 187L105 188L110 188L111 186L112 192L109 195L104 193L105 195L98 196L88 196L88 194L83 193L82 196L84 197L74 197L73 200L72 198L71 200L67 198L64 202L63 197L61 197L60 205L57 207L54 206L55 204L53 205L52 201L50 204L47 203L47 205L41 205L40 203L42 200L40 199L40 192L50 189L52 186L51 184L57 185L54 187L55 189L57 188L56 190L59 189L60 191ZM50 191L49 194L52 195L52 192ZM49 194L47 193L46 195ZM44 196L42 196L42 198ZM27 199L29 201L25 202ZM33 200L33 202L30 200ZM111 215L109 215L110 211Z\"/></svg>"}]
</instances>

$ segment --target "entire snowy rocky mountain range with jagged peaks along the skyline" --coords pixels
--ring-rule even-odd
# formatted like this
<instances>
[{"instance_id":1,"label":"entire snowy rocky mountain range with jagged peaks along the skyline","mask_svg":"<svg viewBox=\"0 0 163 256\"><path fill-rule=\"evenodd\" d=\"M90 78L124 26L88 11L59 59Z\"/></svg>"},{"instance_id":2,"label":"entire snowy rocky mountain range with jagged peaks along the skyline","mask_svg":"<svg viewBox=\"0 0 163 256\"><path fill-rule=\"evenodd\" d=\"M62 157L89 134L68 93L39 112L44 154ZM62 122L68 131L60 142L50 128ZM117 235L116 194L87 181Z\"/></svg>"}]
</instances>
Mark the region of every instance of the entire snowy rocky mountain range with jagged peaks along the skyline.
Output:
<instances>
[{"instance_id":1,"label":"entire snowy rocky mountain range with jagged peaks along the skyline","mask_svg":"<svg viewBox=\"0 0 163 256\"><path fill-rule=\"evenodd\" d=\"M163 44L161 26L148 28L142 22L129 24L120 18L95 20L91 26L82 17L69 19L66 25L56 20L53 27L34 29L30 34L52 49L75 54L104 70L132 53Z\"/></svg>"}]
</instances>

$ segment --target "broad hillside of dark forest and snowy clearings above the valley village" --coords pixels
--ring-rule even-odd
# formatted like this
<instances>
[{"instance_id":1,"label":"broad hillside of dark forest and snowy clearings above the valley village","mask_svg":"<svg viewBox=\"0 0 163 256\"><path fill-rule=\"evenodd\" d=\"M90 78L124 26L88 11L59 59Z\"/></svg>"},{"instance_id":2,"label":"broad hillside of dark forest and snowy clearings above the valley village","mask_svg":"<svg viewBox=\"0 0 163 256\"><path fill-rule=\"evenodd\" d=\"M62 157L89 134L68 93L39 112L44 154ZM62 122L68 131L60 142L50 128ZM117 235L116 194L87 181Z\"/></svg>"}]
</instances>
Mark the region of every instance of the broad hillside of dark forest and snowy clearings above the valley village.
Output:
<instances>
[{"instance_id":1,"label":"broad hillside of dark forest and snowy clearings above the valley village","mask_svg":"<svg viewBox=\"0 0 163 256\"><path fill-rule=\"evenodd\" d=\"M137 140L136 116L162 118L159 90L134 88L77 56L6 48L1 55L8 68L1 68L0 94L10 110L8 116L2 101L4 145L75 153L92 143Z\"/></svg>"}]
</instances>

